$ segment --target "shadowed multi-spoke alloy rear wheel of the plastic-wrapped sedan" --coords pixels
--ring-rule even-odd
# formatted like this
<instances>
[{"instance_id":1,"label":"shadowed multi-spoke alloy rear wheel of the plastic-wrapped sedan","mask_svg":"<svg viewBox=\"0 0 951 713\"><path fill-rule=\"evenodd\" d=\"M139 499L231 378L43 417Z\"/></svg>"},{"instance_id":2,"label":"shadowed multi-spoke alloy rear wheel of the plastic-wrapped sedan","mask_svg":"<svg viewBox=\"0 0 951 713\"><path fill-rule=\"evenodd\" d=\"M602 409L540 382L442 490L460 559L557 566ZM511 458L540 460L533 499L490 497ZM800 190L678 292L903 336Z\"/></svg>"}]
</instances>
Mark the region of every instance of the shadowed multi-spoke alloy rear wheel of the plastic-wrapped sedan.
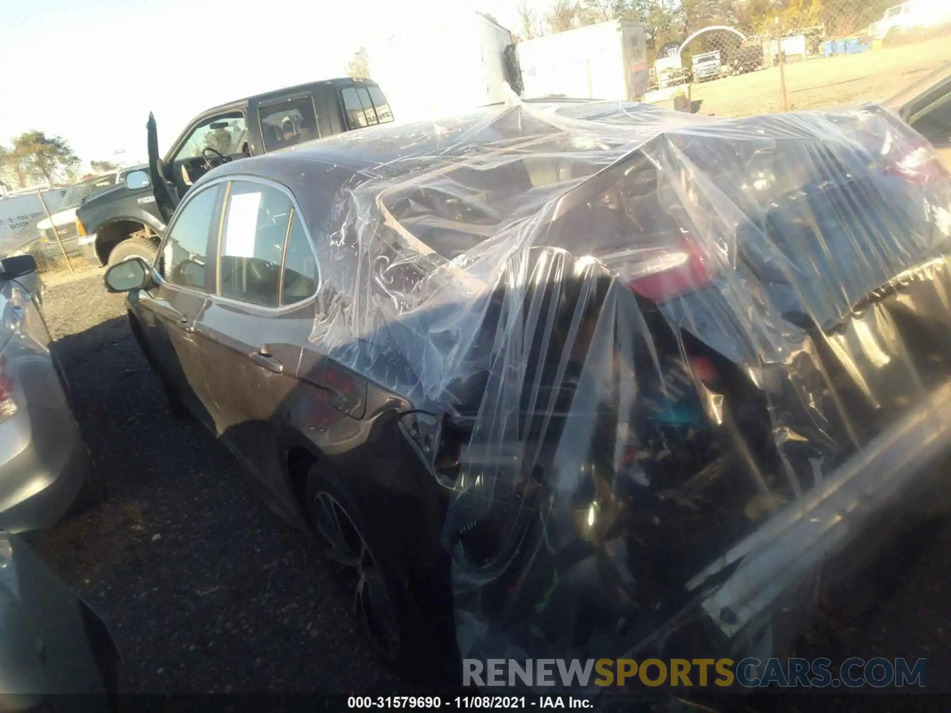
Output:
<instances>
[{"instance_id":1,"label":"shadowed multi-spoke alloy rear wheel of the plastic-wrapped sedan","mask_svg":"<svg viewBox=\"0 0 951 713\"><path fill-rule=\"evenodd\" d=\"M387 660L399 655L397 608L383 572L353 519L329 492L314 498L314 524L327 545L327 558L357 576L354 610L364 635Z\"/></svg>"}]
</instances>

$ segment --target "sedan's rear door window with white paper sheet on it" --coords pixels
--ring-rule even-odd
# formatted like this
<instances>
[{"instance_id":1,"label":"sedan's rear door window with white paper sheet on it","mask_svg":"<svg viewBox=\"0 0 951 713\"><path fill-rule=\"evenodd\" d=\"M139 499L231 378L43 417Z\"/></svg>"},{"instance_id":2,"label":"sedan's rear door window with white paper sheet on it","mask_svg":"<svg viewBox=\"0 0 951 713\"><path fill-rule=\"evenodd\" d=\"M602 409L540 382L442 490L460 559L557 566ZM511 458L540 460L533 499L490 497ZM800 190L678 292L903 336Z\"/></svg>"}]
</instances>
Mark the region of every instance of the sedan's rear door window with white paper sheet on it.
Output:
<instances>
[{"instance_id":1,"label":"sedan's rear door window with white paper sheet on it","mask_svg":"<svg viewBox=\"0 0 951 713\"><path fill-rule=\"evenodd\" d=\"M293 202L270 185L235 181L224 212L218 251L218 294L277 307L281 257Z\"/></svg>"}]
</instances>

